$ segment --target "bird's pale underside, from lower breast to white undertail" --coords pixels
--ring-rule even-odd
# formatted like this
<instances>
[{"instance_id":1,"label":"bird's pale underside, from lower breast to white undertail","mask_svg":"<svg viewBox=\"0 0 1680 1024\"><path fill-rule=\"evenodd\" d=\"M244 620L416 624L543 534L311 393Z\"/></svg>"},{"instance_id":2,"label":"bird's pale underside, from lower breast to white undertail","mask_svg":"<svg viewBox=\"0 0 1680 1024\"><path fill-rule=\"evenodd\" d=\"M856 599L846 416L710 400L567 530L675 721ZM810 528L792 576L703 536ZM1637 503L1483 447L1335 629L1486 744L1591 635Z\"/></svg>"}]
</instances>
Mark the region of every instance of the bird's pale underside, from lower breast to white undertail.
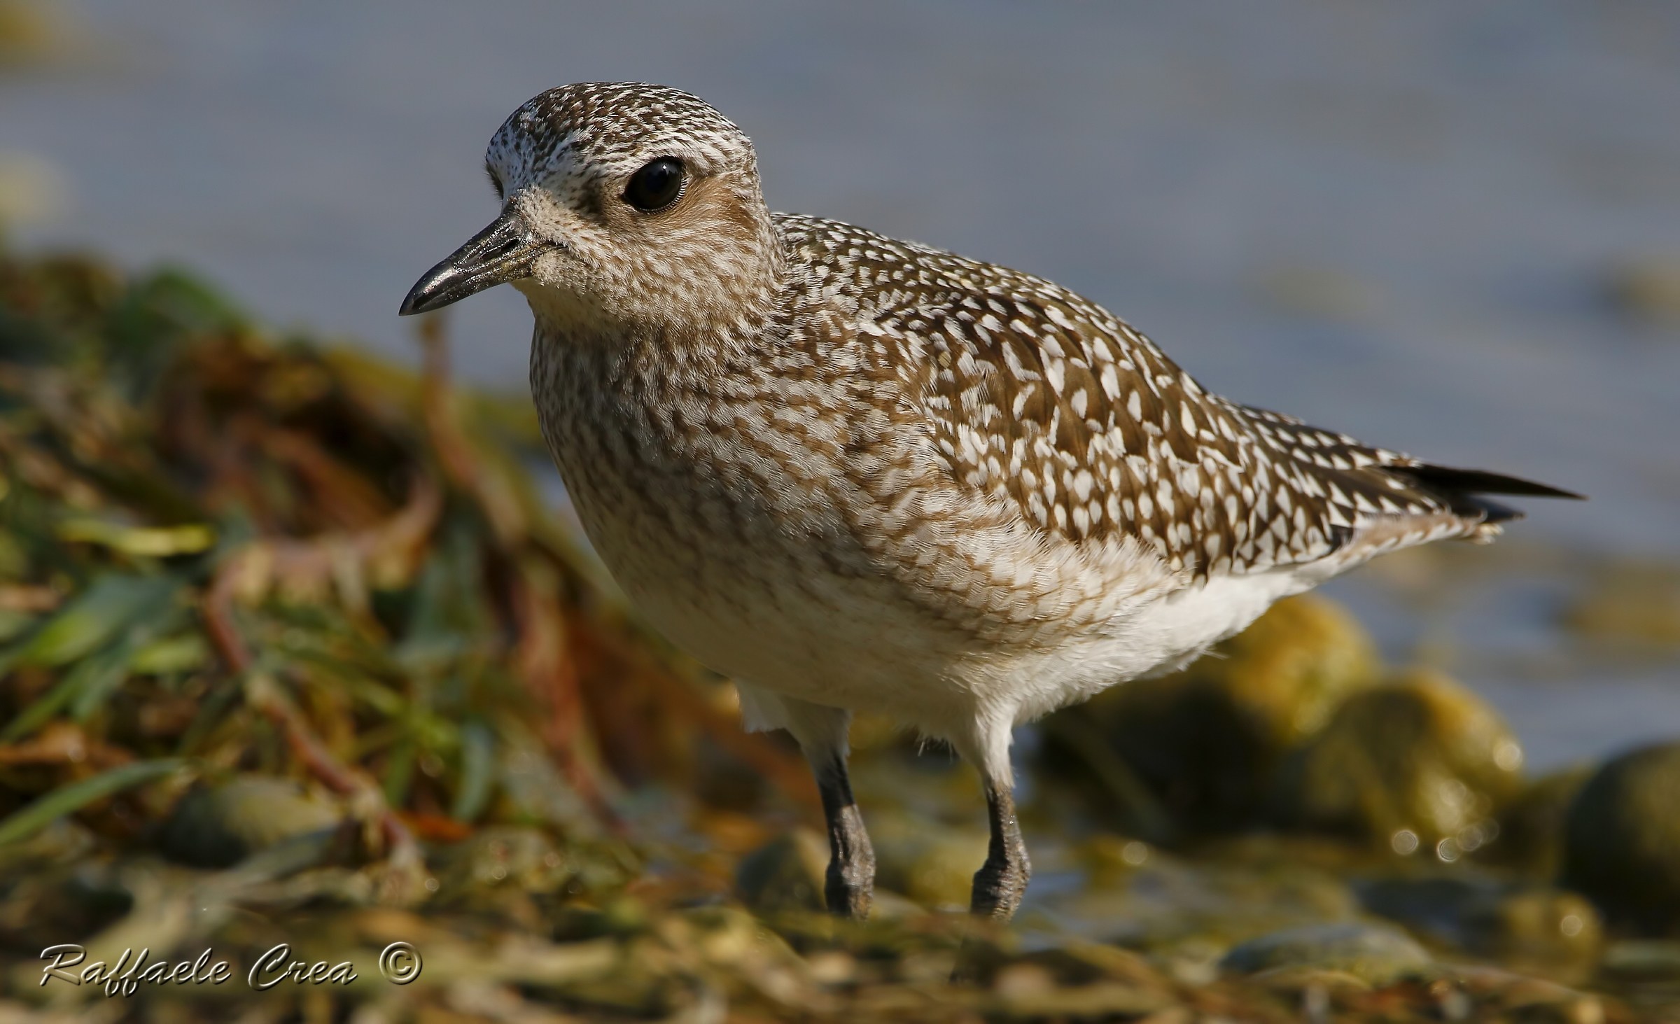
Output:
<instances>
[{"instance_id":1,"label":"bird's pale underside, from lower breast to white undertail","mask_svg":"<svg viewBox=\"0 0 1680 1024\"><path fill-rule=\"evenodd\" d=\"M1215 577L1048 646L998 648L941 628L885 579L835 576L798 546L721 552L687 529L581 497L591 542L674 645L746 687L884 713L934 735L1003 705L1015 722L1178 668L1304 589L1292 572ZM696 524L689 524L690 527ZM778 725L768 715L759 725Z\"/></svg>"}]
</instances>

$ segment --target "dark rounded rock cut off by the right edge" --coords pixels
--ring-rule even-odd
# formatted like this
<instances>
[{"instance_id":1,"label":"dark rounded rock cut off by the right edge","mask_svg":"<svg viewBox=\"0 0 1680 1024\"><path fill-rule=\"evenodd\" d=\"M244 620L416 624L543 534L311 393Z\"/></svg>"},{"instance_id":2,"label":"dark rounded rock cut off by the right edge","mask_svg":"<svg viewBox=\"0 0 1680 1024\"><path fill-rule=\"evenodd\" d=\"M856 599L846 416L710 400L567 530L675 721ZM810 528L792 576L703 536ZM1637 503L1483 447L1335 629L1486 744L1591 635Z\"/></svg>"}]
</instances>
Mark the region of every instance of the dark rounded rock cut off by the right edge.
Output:
<instances>
[{"instance_id":1,"label":"dark rounded rock cut off by the right edge","mask_svg":"<svg viewBox=\"0 0 1680 1024\"><path fill-rule=\"evenodd\" d=\"M1680 742L1623 754L1594 774L1564 821L1564 885L1614 923L1680 935Z\"/></svg>"}]
</instances>

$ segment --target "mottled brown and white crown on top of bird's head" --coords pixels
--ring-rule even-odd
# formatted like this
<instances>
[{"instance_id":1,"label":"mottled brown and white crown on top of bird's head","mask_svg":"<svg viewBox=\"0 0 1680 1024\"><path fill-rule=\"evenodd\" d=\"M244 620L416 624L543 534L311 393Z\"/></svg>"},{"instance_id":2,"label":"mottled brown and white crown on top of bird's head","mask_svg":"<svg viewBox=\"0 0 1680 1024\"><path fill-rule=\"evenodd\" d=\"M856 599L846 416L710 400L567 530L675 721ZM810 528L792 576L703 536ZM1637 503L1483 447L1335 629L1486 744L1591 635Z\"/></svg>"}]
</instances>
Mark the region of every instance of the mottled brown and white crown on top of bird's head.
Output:
<instances>
[{"instance_id":1,"label":"mottled brown and white crown on top of bird's head","mask_svg":"<svg viewBox=\"0 0 1680 1024\"><path fill-rule=\"evenodd\" d=\"M702 175L754 163L753 143L704 99L645 82L575 82L533 96L491 138L486 163L514 191L568 165L628 173L654 156Z\"/></svg>"}]
</instances>

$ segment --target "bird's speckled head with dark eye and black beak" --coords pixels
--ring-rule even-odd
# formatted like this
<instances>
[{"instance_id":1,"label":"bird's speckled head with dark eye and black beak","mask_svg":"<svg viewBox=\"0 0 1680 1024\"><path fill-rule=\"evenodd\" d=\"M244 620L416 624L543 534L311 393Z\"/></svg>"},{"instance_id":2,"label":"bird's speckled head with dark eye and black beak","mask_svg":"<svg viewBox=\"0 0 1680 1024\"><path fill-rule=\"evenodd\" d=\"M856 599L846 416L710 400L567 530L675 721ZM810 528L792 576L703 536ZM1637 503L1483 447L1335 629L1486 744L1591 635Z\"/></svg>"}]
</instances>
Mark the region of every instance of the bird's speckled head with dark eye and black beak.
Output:
<instances>
[{"instance_id":1,"label":"bird's speckled head with dark eye and black beak","mask_svg":"<svg viewBox=\"0 0 1680 1024\"><path fill-rule=\"evenodd\" d=\"M753 143L704 101L635 82L549 89L497 129L502 213L403 299L403 316L512 284L563 329L738 319L780 248Z\"/></svg>"}]
</instances>

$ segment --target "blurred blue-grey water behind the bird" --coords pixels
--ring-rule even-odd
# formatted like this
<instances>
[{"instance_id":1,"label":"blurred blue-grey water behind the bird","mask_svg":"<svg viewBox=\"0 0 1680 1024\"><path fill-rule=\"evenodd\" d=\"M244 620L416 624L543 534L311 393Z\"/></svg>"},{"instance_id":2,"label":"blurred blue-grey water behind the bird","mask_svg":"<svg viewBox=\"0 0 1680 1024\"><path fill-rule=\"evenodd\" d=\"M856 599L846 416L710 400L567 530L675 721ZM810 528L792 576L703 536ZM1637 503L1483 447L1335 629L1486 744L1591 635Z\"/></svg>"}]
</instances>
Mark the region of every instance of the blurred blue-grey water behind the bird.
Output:
<instances>
[{"instance_id":1,"label":"blurred blue-grey water behind the bird","mask_svg":"<svg viewBox=\"0 0 1680 1024\"><path fill-rule=\"evenodd\" d=\"M1556 628L1579 557L1680 561L1680 8L924 0L79 0L0 77L29 247L207 270L413 359L396 302L494 215L528 96L645 79L756 141L773 208L1021 267L1205 384L1593 495L1502 554L1332 586L1488 695L1530 767L1680 732L1672 655ZM524 386L511 289L469 378ZM1480 567L1448 572L1452 564Z\"/></svg>"}]
</instances>

